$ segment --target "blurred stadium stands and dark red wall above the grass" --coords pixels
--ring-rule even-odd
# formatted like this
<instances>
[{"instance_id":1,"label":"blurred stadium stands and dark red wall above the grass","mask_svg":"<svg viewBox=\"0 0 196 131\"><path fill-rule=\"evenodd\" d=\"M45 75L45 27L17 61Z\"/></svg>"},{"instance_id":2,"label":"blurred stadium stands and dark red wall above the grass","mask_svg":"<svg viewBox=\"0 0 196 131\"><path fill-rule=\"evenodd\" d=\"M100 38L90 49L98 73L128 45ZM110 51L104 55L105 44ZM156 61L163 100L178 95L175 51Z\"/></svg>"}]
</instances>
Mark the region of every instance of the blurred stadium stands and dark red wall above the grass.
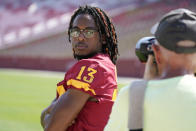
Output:
<instances>
[{"instance_id":1,"label":"blurred stadium stands and dark red wall above the grass","mask_svg":"<svg viewBox=\"0 0 196 131\"><path fill-rule=\"evenodd\" d=\"M175 8L193 11L195 0L1 0L0 68L67 71L75 61L67 28L79 5L104 9L115 24L120 56L119 76L142 77L144 65L135 44Z\"/></svg>"}]
</instances>

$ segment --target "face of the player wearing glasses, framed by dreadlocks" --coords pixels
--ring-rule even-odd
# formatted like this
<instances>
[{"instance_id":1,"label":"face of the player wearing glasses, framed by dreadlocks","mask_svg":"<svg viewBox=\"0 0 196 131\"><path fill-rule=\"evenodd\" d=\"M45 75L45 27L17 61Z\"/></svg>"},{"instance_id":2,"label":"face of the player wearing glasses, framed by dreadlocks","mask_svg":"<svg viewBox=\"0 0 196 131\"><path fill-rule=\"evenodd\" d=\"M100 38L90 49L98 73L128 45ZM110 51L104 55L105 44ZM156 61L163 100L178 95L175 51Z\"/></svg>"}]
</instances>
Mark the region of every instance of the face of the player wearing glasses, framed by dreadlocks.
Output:
<instances>
[{"instance_id":1,"label":"face of the player wearing glasses, framed by dreadlocks","mask_svg":"<svg viewBox=\"0 0 196 131\"><path fill-rule=\"evenodd\" d=\"M91 15L80 14L73 21L70 30L75 56L88 56L101 52L102 44L95 21Z\"/></svg>"}]
</instances>

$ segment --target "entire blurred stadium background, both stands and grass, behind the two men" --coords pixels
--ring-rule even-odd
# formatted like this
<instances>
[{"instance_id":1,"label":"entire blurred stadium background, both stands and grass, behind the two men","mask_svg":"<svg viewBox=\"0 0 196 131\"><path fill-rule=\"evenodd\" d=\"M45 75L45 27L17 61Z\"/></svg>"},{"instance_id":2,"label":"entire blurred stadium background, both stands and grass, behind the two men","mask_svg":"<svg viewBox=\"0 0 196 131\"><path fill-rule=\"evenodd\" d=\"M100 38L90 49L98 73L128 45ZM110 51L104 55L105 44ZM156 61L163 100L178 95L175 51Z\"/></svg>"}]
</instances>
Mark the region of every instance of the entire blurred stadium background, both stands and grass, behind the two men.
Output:
<instances>
[{"instance_id":1,"label":"entire blurred stadium background, both stands and grass, behind the two men","mask_svg":"<svg viewBox=\"0 0 196 131\"><path fill-rule=\"evenodd\" d=\"M67 28L73 11L85 4L104 9L116 27L119 90L142 77L135 45L151 36L162 15L196 11L195 0L0 0L0 131L42 130L41 111L76 62Z\"/></svg>"}]
</instances>

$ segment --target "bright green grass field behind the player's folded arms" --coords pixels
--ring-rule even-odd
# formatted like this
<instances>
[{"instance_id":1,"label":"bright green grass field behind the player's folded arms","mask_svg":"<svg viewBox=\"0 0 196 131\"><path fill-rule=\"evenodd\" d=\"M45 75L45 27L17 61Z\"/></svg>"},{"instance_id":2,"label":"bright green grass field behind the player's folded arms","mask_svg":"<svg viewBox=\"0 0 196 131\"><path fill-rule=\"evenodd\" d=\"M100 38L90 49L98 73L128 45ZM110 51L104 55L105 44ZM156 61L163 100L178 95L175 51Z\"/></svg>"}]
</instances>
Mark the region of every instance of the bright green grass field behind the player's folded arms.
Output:
<instances>
[{"instance_id":1,"label":"bright green grass field behind the player's folded arms","mask_svg":"<svg viewBox=\"0 0 196 131\"><path fill-rule=\"evenodd\" d=\"M0 69L0 131L42 131L40 113L54 99L56 83L63 77L63 73Z\"/></svg>"}]
</instances>

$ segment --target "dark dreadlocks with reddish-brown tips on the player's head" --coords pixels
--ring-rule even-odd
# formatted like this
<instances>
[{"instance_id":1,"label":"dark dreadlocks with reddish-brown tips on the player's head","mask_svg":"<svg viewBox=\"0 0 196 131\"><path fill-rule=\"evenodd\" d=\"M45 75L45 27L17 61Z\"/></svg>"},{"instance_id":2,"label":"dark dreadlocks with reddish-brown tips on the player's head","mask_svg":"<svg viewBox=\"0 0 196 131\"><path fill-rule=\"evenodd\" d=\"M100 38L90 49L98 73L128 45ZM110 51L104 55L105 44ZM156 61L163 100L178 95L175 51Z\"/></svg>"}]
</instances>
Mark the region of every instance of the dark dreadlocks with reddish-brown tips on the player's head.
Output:
<instances>
[{"instance_id":1,"label":"dark dreadlocks with reddish-brown tips on the player's head","mask_svg":"<svg viewBox=\"0 0 196 131\"><path fill-rule=\"evenodd\" d=\"M93 17L99 29L98 32L102 43L102 53L109 54L112 62L116 64L117 55L118 55L117 35L115 32L114 25L112 24L110 18L100 8L84 6L84 7L79 7L74 12L69 23L69 29L68 29L69 42L71 42L70 29L72 28L73 21L76 18L76 16L80 14L89 14ZM106 43L104 43L102 36L105 37L104 40Z\"/></svg>"}]
</instances>

